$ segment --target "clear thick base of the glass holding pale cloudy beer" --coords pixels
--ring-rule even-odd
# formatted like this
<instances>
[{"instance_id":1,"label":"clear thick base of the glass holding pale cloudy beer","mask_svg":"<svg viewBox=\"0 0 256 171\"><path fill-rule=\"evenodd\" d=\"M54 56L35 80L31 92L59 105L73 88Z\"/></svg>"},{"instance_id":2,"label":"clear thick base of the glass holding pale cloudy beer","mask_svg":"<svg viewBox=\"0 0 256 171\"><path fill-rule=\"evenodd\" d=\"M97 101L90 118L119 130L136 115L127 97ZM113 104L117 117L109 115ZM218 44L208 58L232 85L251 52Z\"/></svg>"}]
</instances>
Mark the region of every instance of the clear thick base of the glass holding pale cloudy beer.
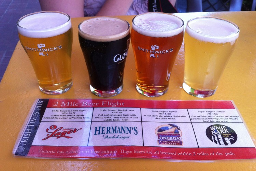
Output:
<instances>
[{"instance_id":1,"label":"clear thick base of the glass holding pale cloudy beer","mask_svg":"<svg viewBox=\"0 0 256 171\"><path fill-rule=\"evenodd\" d=\"M195 96L195 97L210 97L214 95L216 89L214 90L207 90L207 91L201 91L201 90L196 90L194 88L189 87L185 82L182 84L183 89L190 95Z\"/></svg>"}]
</instances>

